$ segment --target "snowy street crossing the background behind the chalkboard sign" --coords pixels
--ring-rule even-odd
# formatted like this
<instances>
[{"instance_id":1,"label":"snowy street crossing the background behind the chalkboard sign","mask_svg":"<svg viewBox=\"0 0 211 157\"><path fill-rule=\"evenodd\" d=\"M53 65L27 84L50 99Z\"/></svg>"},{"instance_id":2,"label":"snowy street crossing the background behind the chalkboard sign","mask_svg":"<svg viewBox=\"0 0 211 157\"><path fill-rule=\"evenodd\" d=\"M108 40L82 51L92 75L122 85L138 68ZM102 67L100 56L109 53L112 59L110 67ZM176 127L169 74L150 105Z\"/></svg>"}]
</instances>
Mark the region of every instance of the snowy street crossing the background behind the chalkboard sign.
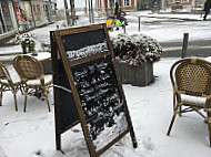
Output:
<instances>
[{"instance_id":1,"label":"snowy street crossing the background behind the chalkboard sign","mask_svg":"<svg viewBox=\"0 0 211 157\"><path fill-rule=\"evenodd\" d=\"M139 17L140 17L140 32L139 32ZM151 13L150 11L129 12L125 17L128 25L127 33L142 33L155 39L162 46L162 57L180 57L183 44L183 34L189 33L187 56L210 56L211 55L211 21L202 21L200 14L165 14L165 13ZM54 30L57 25L64 29L66 21L58 21L50 25L34 29L31 31L37 35L40 41L50 43L49 31ZM94 19L94 23L104 23L105 18ZM92 24L89 19L80 17L76 27ZM110 36L115 36L118 33L123 33L123 29L119 31L109 32ZM18 48L18 49L17 49ZM12 61L13 53L20 53L19 45L11 46L4 45L0 48L1 62ZM10 51L10 53L8 52ZM37 51L42 51L37 44ZM12 56L8 56L12 55ZM8 59L9 57L9 59Z\"/></svg>"}]
</instances>

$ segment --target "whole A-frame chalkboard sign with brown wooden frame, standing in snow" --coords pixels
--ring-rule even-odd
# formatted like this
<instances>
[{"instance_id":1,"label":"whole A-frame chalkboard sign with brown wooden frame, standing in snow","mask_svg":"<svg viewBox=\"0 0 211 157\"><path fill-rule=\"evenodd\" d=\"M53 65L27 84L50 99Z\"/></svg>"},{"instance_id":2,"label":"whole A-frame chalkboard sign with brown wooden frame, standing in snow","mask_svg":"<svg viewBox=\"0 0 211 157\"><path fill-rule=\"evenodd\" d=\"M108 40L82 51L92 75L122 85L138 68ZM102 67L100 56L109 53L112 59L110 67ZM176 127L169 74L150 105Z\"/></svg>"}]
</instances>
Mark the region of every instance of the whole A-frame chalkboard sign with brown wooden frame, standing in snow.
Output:
<instances>
[{"instance_id":1,"label":"whole A-frame chalkboard sign with brown wooden frame, standing in snow","mask_svg":"<svg viewBox=\"0 0 211 157\"><path fill-rule=\"evenodd\" d=\"M91 157L125 134L138 146L105 24L51 31L56 140L81 123Z\"/></svg>"}]
</instances>

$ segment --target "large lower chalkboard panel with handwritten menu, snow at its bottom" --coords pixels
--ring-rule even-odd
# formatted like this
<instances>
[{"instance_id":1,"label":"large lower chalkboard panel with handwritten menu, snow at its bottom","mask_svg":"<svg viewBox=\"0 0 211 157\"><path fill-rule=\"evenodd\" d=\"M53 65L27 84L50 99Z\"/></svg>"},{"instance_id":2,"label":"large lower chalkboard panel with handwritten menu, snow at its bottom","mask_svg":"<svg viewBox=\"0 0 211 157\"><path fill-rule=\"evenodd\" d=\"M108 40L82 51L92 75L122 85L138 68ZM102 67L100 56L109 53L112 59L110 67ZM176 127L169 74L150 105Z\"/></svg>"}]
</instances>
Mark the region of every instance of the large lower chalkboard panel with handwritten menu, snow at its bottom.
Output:
<instances>
[{"instance_id":1,"label":"large lower chalkboard panel with handwritten menu, snow at its bottom","mask_svg":"<svg viewBox=\"0 0 211 157\"><path fill-rule=\"evenodd\" d=\"M128 128L125 108L111 56L71 67L96 150Z\"/></svg>"}]
</instances>

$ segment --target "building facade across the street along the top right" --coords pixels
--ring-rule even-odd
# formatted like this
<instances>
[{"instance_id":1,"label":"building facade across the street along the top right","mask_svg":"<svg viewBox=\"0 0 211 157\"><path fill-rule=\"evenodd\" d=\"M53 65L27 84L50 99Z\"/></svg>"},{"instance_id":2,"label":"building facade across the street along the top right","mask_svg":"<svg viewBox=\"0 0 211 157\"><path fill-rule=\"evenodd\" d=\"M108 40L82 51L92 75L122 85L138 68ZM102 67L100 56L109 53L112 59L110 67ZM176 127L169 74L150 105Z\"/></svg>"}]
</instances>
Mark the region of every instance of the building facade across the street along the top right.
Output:
<instances>
[{"instance_id":1,"label":"building facade across the street along the top right","mask_svg":"<svg viewBox=\"0 0 211 157\"><path fill-rule=\"evenodd\" d=\"M113 14L114 3L119 2L124 11L157 9L202 9L205 0L96 0L99 14Z\"/></svg>"}]
</instances>

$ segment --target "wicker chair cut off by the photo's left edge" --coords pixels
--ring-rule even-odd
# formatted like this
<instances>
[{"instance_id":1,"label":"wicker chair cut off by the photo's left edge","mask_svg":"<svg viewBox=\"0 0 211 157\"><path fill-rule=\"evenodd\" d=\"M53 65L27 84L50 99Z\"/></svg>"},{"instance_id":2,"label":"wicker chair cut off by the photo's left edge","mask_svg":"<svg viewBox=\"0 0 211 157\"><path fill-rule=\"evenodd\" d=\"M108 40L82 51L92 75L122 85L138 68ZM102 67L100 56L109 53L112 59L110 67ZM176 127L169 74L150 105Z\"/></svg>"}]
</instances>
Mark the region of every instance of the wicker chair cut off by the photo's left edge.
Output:
<instances>
[{"instance_id":1,"label":"wicker chair cut off by the photo's left edge","mask_svg":"<svg viewBox=\"0 0 211 157\"><path fill-rule=\"evenodd\" d=\"M0 63L0 106L2 106L3 92L11 91L14 97L16 111L18 111L17 92L20 88L20 78L16 77L16 81L11 78L10 73L6 65Z\"/></svg>"}]
</instances>

